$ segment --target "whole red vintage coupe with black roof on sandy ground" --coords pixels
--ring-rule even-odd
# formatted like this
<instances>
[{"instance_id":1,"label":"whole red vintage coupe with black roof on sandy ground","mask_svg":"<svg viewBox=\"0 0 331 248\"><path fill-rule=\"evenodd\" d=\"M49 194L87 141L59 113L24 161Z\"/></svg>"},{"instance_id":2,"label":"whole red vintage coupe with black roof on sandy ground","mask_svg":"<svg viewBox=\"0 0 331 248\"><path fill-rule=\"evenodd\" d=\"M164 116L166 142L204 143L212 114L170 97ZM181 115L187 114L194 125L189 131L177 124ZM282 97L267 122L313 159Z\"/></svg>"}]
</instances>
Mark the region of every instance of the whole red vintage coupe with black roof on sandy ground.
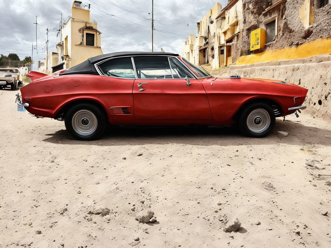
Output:
<instances>
[{"instance_id":1,"label":"whole red vintage coupe with black roof on sandy ground","mask_svg":"<svg viewBox=\"0 0 331 248\"><path fill-rule=\"evenodd\" d=\"M32 71L19 110L64 120L76 139L106 125L227 125L264 137L275 117L304 108L307 89L278 80L213 77L178 54L118 52L47 75ZM297 114L297 113L296 113Z\"/></svg>"}]
</instances>

